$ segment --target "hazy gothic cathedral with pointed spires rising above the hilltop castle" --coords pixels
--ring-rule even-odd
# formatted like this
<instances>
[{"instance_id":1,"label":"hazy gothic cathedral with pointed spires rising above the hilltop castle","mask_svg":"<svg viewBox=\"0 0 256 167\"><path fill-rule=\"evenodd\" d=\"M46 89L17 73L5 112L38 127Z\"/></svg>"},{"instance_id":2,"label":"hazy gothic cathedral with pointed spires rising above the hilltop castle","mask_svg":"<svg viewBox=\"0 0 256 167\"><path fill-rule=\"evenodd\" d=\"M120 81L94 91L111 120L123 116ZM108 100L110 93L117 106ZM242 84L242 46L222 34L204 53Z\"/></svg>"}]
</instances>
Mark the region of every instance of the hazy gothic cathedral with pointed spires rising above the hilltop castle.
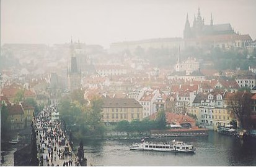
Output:
<instances>
[{"instance_id":1,"label":"hazy gothic cathedral with pointed spires rising above the hilltop castle","mask_svg":"<svg viewBox=\"0 0 256 167\"><path fill-rule=\"evenodd\" d=\"M230 23L225 24L213 24L213 15L211 15L210 25L205 25L205 19L201 17L200 8L198 7L198 13L194 16L193 26L190 26L190 22L187 20L185 23L185 30L183 31L183 38L198 38L200 36L208 35L232 35L234 33Z\"/></svg>"}]
</instances>

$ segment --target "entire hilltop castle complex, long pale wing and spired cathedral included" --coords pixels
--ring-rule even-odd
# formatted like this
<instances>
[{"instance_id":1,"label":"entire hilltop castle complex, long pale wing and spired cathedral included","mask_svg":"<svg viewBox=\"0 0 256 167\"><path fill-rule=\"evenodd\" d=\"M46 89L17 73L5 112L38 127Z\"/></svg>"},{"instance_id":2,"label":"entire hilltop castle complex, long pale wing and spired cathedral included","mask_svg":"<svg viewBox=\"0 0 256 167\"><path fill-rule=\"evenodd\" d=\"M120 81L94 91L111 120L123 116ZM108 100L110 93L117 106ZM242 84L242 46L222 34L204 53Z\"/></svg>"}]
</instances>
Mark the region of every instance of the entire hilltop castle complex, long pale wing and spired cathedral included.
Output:
<instances>
[{"instance_id":1,"label":"entire hilltop castle complex, long pale wing and spired cathedral included","mask_svg":"<svg viewBox=\"0 0 256 167\"><path fill-rule=\"evenodd\" d=\"M234 32L230 23L214 24L213 15L211 15L210 25L205 25L205 20L201 17L200 8L197 15L194 16L193 25L188 20L185 22L182 38L157 38L145 39L140 41L123 41L112 43L110 45L110 53L122 52L129 50L134 52L137 48L144 50L149 47L155 49L185 49L186 47L200 47L211 49L219 47L222 49L231 48L247 48L252 44L250 35L240 35Z\"/></svg>"}]
</instances>

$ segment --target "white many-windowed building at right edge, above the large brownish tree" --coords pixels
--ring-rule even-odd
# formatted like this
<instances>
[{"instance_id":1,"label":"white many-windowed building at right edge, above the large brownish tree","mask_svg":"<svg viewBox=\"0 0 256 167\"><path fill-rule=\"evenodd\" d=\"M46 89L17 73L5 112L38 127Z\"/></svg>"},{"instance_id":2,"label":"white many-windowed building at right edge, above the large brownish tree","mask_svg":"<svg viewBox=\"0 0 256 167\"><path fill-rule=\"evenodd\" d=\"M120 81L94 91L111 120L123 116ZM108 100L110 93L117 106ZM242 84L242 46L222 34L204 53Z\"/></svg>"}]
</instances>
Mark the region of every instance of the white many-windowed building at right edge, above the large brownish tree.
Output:
<instances>
[{"instance_id":1,"label":"white many-windowed building at right edge, above the large brownish tree","mask_svg":"<svg viewBox=\"0 0 256 167\"><path fill-rule=\"evenodd\" d=\"M236 78L236 82L241 88L246 87L252 89L255 86L256 75L239 75Z\"/></svg>"}]
</instances>

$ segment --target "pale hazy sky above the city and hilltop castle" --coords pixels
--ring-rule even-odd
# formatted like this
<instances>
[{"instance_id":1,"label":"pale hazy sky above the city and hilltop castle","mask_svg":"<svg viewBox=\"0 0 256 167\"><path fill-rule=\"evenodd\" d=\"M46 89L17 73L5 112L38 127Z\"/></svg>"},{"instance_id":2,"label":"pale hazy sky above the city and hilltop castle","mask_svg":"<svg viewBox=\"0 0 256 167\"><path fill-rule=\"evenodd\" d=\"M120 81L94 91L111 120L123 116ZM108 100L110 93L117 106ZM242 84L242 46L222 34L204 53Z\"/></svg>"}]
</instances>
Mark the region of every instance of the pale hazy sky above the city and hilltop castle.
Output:
<instances>
[{"instance_id":1,"label":"pale hazy sky above the city and hilltop castle","mask_svg":"<svg viewBox=\"0 0 256 167\"><path fill-rule=\"evenodd\" d=\"M193 23L200 6L205 23L231 23L256 38L254 0L1 0L1 44L109 44L183 37L186 15Z\"/></svg>"}]
</instances>

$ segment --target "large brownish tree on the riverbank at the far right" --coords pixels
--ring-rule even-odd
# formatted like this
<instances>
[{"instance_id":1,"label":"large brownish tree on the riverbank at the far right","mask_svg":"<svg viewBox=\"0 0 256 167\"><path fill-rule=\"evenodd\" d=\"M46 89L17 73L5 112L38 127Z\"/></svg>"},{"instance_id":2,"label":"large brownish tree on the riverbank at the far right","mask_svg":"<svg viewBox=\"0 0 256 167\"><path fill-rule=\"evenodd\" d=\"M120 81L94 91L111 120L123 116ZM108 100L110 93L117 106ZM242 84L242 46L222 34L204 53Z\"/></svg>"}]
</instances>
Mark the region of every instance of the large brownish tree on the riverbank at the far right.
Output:
<instances>
[{"instance_id":1,"label":"large brownish tree on the riverbank at the far right","mask_svg":"<svg viewBox=\"0 0 256 167\"><path fill-rule=\"evenodd\" d=\"M249 92L236 92L227 100L227 108L236 116L242 129L249 129L251 127L251 97L252 94Z\"/></svg>"}]
</instances>

